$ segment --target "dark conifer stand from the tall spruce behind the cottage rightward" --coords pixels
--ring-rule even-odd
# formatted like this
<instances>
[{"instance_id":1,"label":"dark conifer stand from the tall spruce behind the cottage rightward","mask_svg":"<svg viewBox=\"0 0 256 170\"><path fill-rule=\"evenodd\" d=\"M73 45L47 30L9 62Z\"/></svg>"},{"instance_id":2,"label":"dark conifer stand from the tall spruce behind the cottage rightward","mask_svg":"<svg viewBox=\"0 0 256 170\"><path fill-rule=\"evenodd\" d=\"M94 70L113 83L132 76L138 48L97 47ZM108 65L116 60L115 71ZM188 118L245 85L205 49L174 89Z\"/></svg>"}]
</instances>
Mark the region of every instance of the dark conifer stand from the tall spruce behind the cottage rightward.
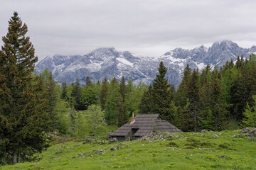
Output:
<instances>
[{"instance_id":1,"label":"dark conifer stand from the tall spruce behind the cottage rightward","mask_svg":"<svg viewBox=\"0 0 256 170\"><path fill-rule=\"evenodd\" d=\"M161 67L166 69L160 64ZM232 129L234 124L242 123L252 126L254 122L255 125L254 54L249 60L238 56L235 63L226 62L220 69L211 70L208 65L201 73L187 65L177 90L167 84L163 78L166 71L161 74L161 70L156 76L158 79L144 93L140 113L160 113L184 132ZM254 115L245 115L245 106Z\"/></svg>"}]
</instances>

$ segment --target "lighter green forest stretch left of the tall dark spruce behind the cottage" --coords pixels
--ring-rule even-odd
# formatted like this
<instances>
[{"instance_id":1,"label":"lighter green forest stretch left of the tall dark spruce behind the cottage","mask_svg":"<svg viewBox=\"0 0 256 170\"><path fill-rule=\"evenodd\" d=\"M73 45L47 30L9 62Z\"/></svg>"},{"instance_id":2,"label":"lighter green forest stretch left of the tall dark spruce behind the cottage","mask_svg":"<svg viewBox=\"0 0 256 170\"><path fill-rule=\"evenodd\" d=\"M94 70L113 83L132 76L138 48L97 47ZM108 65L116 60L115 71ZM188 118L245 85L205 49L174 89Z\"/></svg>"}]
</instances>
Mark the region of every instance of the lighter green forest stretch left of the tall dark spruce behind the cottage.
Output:
<instances>
[{"instance_id":1,"label":"lighter green forest stretch left of the tall dark spruce behind the cottage","mask_svg":"<svg viewBox=\"0 0 256 170\"><path fill-rule=\"evenodd\" d=\"M70 85L65 81L60 85L54 81L51 72L45 69L40 74L40 79L44 82L48 98L47 109L53 121L51 128L75 137L94 134L88 129L83 133L78 132L82 126L81 122L88 119L81 114L90 106L100 108L107 125L120 127L127 123L132 113L139 113L139 103L146 91L145 84L134 85L131 79L127 82L124 77L120 82L114 77L110 82L102 79L101 82L95 83L87 77L85 86L80 85L79 79Z\"/></svg>"}]
</instances>

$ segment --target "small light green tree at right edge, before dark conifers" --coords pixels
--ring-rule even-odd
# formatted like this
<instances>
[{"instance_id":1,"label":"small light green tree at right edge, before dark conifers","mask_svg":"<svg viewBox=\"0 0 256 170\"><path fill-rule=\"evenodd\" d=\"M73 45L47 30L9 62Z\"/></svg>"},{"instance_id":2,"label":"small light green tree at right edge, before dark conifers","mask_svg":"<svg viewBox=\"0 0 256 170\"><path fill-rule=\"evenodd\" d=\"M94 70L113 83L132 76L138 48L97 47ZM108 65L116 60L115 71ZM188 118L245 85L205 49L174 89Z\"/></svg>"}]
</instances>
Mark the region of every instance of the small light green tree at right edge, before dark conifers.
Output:
<instances>
[{"instance_id":1,"label":"small light green tree at right edge, before dark conifers","mask_svg":"<svg viewBox=\"0 0 256 170\"><path fill-rule=\"evenodd\" d=\"M252 96L252 98L254 100L254 105L250 107L247 103L245 111L242 113L242 115L245 116L242 123L245 123L247 127L256 128L256 96Z\"/></svg>"}]
</instances>

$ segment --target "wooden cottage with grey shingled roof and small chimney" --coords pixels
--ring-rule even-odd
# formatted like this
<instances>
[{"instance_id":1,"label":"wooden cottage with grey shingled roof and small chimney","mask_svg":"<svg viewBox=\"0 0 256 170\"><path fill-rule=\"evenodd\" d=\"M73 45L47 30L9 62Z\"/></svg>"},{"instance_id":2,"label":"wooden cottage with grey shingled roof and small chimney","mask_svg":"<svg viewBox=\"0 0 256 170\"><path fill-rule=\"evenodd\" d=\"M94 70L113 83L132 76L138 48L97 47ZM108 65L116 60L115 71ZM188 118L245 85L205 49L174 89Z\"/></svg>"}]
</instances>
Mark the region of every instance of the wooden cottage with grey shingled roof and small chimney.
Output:
<instances>
[{"instance_id":1,"label":"wooden cottage with grey shingled roof and small chimney","mask_svg":"<svg viewBox=\"0 0 256 170\"><path fill-rule=\"evenodd\" d=\"M131 121L110 133L117 140L134 140L152 131L182 132L171 123L161 118L159 114L136 115Z\"/></svg>"}]
</instances>

